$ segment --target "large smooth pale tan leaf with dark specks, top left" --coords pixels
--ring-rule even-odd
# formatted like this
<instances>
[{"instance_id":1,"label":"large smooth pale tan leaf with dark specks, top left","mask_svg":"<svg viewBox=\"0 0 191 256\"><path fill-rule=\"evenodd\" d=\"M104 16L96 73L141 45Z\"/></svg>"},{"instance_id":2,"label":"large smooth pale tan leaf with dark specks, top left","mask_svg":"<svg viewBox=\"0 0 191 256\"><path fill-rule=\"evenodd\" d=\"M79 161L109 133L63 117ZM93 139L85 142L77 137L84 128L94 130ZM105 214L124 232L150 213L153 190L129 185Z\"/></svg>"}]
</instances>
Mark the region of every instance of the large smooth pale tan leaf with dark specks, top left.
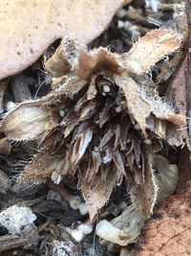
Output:
<instances>
[{"instance_id":1,"label":"large smooth pale tan leaf with dark specks, top left","mask_svg":"<svg viewBox=\"0 0 191 256\"><path fill-rule=\"evenodd\" d=\"M70 35L85 44L91 42L124 2L2 0L0 79L32 65L57 38Z\"/></svg>"}]
</instances>

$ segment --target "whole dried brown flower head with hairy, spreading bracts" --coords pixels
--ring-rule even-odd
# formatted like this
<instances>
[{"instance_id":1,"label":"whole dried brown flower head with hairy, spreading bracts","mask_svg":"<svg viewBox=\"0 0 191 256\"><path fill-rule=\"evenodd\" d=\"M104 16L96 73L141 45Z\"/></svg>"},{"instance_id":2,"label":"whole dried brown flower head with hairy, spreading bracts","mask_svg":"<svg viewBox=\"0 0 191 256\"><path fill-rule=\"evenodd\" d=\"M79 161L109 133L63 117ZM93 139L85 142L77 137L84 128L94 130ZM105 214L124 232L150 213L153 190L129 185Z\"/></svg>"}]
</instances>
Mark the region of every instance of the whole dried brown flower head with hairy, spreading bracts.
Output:
<instances>
[{"instance_id":1,"label":"whole dried brown flower head with hairy, spreading bracts","mask_svg":"<svg viewBox=\"0 0 191 256\"><path fill-rule=\"evenodd\" d=\"M158 85L147 73L179 50L181 40L171 29L154 30L122 55L101 47L89 51L73 40L62 40L46 63L51 71L57 64L54 59L62 59L55 55L64 55L65 76L54 80L62 82L46 97L18 105L3 122L9 139L39 142L19 182L52 179L58 184L66 175L75 177L91 221L113 189L125 182L132 211L140 221L146 220L159 194L156 154L163 141L182 145L183 137L176 131L186 126L185 116L159 97ZM126 212L130 215L131 209ZM132 241L139 229L134 232ZM122 240L117 244L131 241L126 235Z\"/></svg>"}]
</instances>

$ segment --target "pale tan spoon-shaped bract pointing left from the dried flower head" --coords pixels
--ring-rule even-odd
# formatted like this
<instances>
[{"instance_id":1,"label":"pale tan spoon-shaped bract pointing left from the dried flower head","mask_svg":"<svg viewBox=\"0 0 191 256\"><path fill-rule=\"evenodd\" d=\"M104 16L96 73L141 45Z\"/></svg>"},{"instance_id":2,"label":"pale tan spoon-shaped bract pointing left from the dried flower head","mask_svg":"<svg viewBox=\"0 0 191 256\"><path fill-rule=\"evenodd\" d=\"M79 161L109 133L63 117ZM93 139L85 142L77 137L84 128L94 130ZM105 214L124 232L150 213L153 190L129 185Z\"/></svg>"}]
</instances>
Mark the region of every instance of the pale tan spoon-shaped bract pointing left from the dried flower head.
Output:
<instances>
[{"instance_id":1,"label":"pale tan spoon-shaped bract pointing left from the dried flower head","mask_svg":"<svg viewBox=\"0 0 191 256\"><path fill-rule=\"evenodd\" d=\"M56 101L59 103L63 95L73 98L85 83L76 77L68 78L62 87L46 97L18 105L6 115L2 129L9 139L15 141L40 138L57 122L56 115L51 112L51 105L56 105Z\"/></svg>"}]
</instances>

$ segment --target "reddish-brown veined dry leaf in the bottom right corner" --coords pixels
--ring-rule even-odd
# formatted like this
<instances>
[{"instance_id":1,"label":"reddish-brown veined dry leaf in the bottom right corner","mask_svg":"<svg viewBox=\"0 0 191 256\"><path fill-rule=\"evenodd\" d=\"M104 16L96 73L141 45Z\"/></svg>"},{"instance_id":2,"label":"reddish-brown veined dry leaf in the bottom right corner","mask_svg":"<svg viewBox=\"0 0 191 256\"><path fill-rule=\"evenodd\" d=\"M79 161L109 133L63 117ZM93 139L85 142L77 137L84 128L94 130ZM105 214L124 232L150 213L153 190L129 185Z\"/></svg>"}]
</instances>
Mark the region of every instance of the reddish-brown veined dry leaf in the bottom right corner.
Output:
<instances>
[{"instance_id":1,"label":"reddish-brown veined dry leaf in the bottom right corner","mask_svg":"<svg viewBox=\"0 0 191 256\"><path fill-rule=\"evenodd\" d=\"M135 256L191 255L191 182L159 208L142 231Z\"/></svg>"}]
</instances>

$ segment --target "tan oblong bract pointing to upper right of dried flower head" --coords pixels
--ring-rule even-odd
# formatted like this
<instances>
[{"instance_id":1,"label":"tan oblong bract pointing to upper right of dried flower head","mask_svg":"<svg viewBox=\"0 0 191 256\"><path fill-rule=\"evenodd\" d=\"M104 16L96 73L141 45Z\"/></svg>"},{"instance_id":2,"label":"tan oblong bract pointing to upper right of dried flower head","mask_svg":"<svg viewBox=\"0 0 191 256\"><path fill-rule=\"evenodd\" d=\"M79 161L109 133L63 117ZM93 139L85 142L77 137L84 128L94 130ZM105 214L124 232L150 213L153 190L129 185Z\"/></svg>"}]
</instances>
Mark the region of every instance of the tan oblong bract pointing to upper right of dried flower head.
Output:
<instances>
[{"instance_id":1,"label":"tan oblong bract pointing to upper right of dried flower head","mask_svg":"<svg viewBox=\"0 0 191 256\"><path fill-rule=\"evenodd\" d=\"M180 42L180 35L173 30L153 30L124 54L125 65L130 72L143 75L161 58L178 50Z\"/></svg>"}]
</instances>

